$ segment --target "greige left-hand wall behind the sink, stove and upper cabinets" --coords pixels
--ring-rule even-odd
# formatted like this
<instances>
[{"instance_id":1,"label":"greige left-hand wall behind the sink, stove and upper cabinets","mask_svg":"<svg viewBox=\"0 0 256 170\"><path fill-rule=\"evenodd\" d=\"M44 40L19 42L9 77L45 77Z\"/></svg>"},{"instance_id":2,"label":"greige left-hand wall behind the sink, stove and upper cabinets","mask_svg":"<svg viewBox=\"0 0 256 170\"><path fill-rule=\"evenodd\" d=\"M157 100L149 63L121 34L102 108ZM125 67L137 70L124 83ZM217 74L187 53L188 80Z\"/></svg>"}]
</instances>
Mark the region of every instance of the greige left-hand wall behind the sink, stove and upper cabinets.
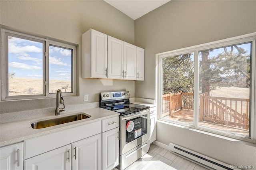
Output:
<instances>
[{"instance_id":1,"label":"greige left-hand wall behind the sink, stove and upper cabinets","mask_svg":"<svg viewBox=\"0 0 256 170\"><path fill-rule=\"evenodd\" d=\"M102 0L0 1L2 28L74 43L78 47L77 77L79 97L65 97L66 105L82 104L83 95L98 101L101 91L129 90L134 97L134 81L82 79L82 34L93 28L134 44L134 20ZM0 113L54 107L55 99L0 102Z\"/></svg>"}]
</instances>

